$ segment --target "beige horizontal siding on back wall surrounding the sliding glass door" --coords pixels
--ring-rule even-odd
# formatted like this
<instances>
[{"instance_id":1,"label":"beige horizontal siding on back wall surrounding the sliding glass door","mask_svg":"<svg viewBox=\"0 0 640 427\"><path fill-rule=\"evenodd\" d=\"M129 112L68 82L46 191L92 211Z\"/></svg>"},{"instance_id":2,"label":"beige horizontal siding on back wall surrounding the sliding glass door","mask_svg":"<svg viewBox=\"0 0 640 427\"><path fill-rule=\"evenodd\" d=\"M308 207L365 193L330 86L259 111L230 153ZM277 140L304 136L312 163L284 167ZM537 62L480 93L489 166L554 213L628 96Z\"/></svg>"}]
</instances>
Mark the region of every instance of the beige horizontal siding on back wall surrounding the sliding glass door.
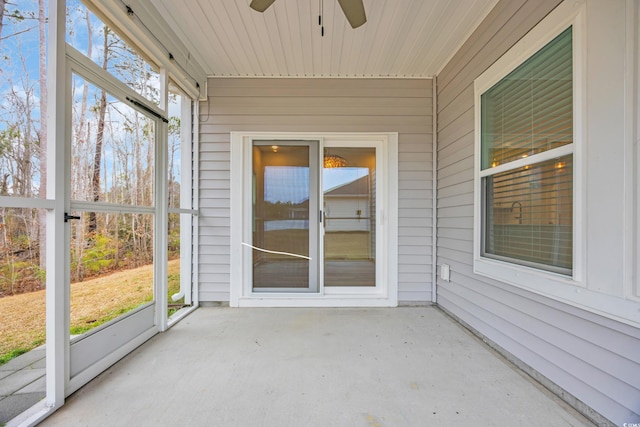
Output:
<instances>
[{"instance_id":1,"label":"beige horizontal siding on back wall surrounding the sliding glass door","mask_svg":"<svg viewBox=\"0 0 640 427\"><path fill-rule=\"evenodd\" d=\"M200 106L201 301L229 300L230 132L398 132L400 301L431 300L432 80L212 78Z\"/></svg>"}]
</instances>

